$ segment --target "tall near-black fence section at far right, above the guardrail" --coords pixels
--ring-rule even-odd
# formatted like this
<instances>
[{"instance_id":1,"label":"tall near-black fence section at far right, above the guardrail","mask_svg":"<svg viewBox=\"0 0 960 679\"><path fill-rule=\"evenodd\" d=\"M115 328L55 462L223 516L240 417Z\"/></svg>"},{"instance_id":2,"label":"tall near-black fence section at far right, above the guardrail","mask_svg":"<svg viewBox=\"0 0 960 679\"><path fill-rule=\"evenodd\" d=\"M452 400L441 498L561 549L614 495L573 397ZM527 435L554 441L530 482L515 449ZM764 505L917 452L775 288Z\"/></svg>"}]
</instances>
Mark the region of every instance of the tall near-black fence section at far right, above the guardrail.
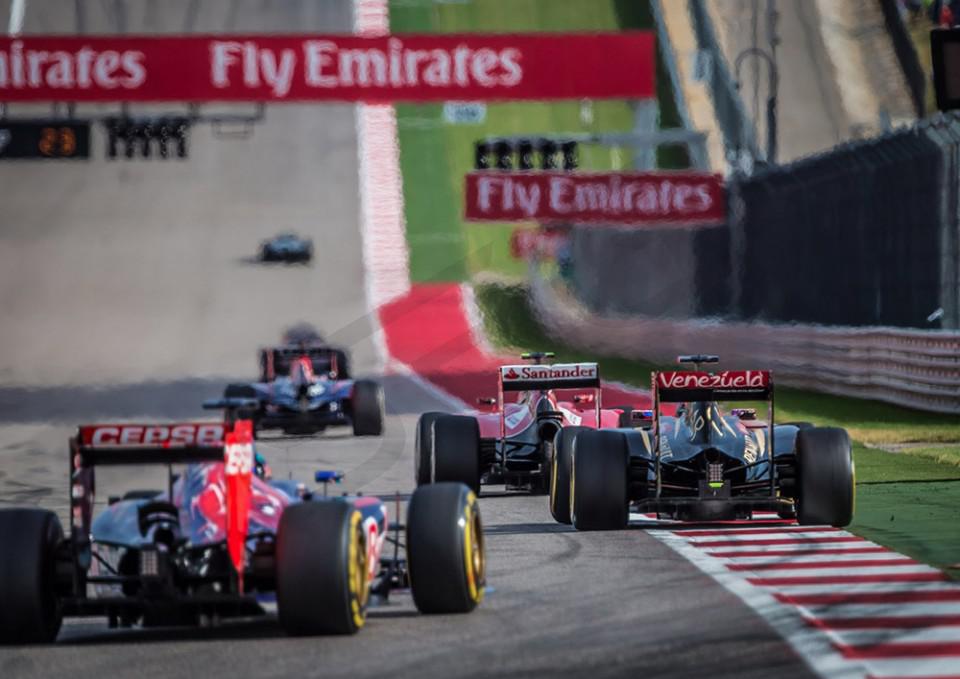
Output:
<instances>
[{"instance_id":1,"label":"tall near-black fence section at far right, above the guardrail","mask_svg":"<svg viewBox=\"0 0 960 679\"><path fill-rule=\"evenodd\" d=\"M960 117L937 116L735 179L729 315L960 327L958 152Z\"/></svg>"}]
</instances>

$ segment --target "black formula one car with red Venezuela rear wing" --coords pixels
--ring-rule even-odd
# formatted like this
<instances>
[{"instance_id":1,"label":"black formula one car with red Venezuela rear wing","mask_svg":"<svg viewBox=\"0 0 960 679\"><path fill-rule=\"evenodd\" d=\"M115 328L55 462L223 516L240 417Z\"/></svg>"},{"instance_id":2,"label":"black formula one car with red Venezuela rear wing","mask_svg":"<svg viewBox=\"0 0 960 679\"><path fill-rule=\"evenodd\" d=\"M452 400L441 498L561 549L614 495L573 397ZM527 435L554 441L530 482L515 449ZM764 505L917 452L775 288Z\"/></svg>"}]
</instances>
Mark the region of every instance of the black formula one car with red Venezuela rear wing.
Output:
<instances>
[{"instance_id":1,"label":"black formula one car with red Venezuela rear wing","mask_svg":"<svg viewBox=\"0 0 960 679\"><path fill-rule=\"evenodd\" d=\"M703 372L716 356L681 356L693 371L654 372L647 427L580 432L570 447L570 516L580 530L624 528L629 512L682 521L749 519L755 511L801 525L846 526L853 518L854 469L843 429L774 424L768 371ZM767 401L724 412L721 401ZM680 403L676 416L663 403ZM561 466L563 461L561 461Z\"/></svg>"}]
</instances>

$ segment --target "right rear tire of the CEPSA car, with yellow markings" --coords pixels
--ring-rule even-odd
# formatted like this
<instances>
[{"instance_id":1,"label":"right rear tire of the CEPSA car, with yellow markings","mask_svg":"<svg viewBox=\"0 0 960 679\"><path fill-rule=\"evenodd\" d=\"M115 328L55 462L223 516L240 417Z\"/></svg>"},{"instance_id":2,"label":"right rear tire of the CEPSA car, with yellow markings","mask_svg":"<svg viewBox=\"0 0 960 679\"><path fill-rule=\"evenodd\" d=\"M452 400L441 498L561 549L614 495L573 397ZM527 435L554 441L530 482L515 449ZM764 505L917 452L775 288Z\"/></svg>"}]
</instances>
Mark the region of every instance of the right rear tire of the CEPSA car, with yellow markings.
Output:
<instances>
[{"instance_id":1,"label":"right rear tire of the CEPSA car, with yellow markings","mask_svg":"<svg viewBox=\"0 0 960 679\"><path fill-rule=\"evenodd\" d=\"M277 613L287 634L354 634L370 595L363 515L349 502L303 502L277 529Z\"/></svg>"}]
</instances>

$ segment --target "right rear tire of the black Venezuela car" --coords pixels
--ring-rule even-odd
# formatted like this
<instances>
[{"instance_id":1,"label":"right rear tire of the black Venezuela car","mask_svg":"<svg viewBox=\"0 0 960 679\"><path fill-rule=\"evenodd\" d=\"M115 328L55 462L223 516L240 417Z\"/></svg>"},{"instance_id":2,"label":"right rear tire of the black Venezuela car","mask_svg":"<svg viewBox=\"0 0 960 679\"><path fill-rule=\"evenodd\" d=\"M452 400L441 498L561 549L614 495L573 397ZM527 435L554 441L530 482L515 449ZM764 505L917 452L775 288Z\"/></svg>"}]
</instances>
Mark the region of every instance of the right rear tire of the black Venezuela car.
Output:
<instances>
[{"instance_id":1,"label":"right rear tire of the black Venezuela car","mask_svg":"<svg viewBox=\"0 0 960 679\"><path fill-rule=\"evenodd\" d=\"M853 519L853 453L846 430L812 427L797 433L797 521L842 527Z\"/></svg>"}]
</instances>

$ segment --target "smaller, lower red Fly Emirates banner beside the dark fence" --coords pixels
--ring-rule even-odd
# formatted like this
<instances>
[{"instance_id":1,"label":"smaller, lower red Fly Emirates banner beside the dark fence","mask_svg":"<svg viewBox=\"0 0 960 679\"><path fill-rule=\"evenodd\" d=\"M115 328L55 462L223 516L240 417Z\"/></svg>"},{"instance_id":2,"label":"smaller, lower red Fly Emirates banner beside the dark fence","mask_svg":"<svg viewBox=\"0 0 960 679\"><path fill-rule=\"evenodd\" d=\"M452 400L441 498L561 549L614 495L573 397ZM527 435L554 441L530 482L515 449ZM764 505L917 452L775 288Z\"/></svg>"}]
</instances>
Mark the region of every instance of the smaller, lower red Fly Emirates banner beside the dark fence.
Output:
<instances>
[{"instance_id":1,"label":"smaller, lower red Fly Emirates banner beside the dark fence","mask_svg":"<svg viewBox=\"0 0 960 679\"><path fill-rule=\"evenodd\" d=\"M723 182L702 172L471 172L474 221L704 225L726 218Z\"/></svg>"}]
</instances>

